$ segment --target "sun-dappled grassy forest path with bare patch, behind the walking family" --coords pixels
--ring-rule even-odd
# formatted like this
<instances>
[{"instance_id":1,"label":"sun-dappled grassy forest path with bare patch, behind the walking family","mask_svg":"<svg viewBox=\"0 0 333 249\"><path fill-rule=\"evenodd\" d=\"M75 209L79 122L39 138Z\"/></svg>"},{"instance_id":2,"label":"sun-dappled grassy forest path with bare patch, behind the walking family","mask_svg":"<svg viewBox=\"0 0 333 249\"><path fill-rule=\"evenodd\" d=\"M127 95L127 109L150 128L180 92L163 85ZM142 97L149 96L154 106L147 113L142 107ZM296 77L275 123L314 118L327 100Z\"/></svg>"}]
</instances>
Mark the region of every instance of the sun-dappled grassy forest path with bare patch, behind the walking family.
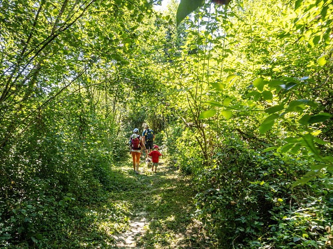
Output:
<instances>
[{"instance_id":1,"label":"sun-dappled grassy forest path with bare patch, behind the walking family","mask_svg":"<svg viewBox=\"0 0 333 249\"><path fill-rule=\"evenodd\" d=\"M112 199L128 203L132 215L129 231L113 235L117 248L209 248L200 223L191 217L195 191L187 178L164 163L157 173L144 161L138 175L131 162L120 170L130 186L113 193Z\"/></svg>"}]
</instances>

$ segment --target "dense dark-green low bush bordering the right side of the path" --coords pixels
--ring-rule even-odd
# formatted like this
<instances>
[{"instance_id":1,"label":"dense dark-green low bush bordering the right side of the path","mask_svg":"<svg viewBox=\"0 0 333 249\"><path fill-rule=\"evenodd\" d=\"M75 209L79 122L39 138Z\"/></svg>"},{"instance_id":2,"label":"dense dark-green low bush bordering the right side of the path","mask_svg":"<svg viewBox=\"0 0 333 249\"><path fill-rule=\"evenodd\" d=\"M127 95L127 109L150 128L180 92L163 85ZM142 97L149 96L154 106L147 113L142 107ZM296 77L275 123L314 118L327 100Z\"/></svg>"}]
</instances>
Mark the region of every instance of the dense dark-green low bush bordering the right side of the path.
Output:
<instances>
[{"instance_id":1,"label":"dense dark-green low bush bordering the right side of the path","mask_svg":"<svg viewBox=\"0 0 333 249\"><path fill-rule=\"evenodd\" d=\"M292 187L311 161L255 150L239 138L221 142L212 164L195 177L195 215L219 248L323 248L331 243L330 175Z\"/></svg>"}]
</instances>

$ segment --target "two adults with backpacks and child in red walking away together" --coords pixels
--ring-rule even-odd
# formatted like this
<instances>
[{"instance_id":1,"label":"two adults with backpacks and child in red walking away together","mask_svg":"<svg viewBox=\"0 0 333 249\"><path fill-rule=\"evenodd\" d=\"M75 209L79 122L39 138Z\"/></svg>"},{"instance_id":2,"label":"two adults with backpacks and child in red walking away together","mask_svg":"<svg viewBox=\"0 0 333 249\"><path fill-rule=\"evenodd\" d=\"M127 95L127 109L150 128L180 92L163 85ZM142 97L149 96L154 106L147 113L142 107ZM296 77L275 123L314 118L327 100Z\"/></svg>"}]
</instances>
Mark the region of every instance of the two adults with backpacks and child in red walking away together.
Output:
<instances>
[{"instance_id":1,"label":"two adults with backpacks and child in red walking away together","mask_svg":"<svg viewBox=\"0 0 333 249\"><path fill-rule=\"evenodd\" d=\"M152 129L149 128L148 124L144 125L144 131L142 132L142 136L139 135L139 129L134 128L133 134L130 137L130 153L133 159L133 169L136 174L139 174L139 166L140 166L140 157L143 150L146 153L146 157L149 158L151 156L152 160L152 168L151 170L155 173L157 170L157 165L159 161L159 157L163 156L159 151L159 147L155 144L155 133Z\"/></svg>"}]
</instances>

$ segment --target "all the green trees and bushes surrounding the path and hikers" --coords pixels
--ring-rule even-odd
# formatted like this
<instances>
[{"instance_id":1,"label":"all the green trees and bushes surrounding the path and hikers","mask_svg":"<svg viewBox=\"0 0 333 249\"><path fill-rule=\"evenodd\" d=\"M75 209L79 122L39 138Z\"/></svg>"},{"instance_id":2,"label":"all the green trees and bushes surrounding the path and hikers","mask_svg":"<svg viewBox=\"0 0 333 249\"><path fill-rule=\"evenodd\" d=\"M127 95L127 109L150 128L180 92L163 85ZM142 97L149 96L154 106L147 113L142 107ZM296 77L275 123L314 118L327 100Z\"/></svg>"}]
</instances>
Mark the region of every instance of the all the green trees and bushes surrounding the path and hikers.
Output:
<instances>
[{"instance_id":1,"label":"all the green trees and bushes surrounding the path and hikers","mask_svg":"<svg viewBox=\"0 0 333 249\"><path fill-rule=\"evenodd\" d=\"M1 1L0 244L108 247L148 123L218 247L329 246L332 0L153 2Z\"/></svg>"}]
</instances>

